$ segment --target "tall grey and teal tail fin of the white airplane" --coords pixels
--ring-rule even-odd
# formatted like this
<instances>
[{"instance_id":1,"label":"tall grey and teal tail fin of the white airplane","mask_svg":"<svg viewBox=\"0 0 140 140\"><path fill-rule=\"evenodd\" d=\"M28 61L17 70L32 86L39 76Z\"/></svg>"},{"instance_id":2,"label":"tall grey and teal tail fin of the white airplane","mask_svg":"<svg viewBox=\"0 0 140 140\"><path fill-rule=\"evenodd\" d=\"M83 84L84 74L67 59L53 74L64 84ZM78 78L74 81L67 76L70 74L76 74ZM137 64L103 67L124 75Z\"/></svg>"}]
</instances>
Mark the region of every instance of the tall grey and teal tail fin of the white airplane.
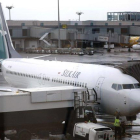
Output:
<instances>
[{"instance_id":1,"label":"tall grey and teal tail fin of the white airplane","mask_svg":"<svg viewBox=\"0 0 140 140\"><path fill-rule=\"evenodd\" d=\"M13 47L7 22L0 3L0 59L21 58Z\"/></svg>"}]
</instances>

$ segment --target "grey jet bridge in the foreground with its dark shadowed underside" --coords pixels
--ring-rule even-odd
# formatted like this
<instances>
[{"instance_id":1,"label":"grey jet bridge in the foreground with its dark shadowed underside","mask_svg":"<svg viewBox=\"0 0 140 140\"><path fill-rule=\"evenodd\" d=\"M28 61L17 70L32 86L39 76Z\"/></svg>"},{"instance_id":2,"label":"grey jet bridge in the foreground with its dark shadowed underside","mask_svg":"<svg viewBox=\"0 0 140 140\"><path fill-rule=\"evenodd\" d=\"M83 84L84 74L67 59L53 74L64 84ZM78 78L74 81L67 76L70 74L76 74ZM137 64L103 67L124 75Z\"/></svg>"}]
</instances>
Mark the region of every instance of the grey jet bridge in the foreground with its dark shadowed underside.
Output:
<instances>
[{"instance_id":1,"label":"grey jet bridge in the foreground with its dark shadowed underside","mask_svg":"<svg viewBox=\"0 0 140 140\"><path fill-rule=\"evenodd\" d=\"M65 134L76 122L85 120L85 113L88 120L96 120L92 106L87 104L88 96L86 88L73 86L3 89L0 130L15 130L17 135L23 129L31 133L45 129Z\"/></svg>"}]
</instances>

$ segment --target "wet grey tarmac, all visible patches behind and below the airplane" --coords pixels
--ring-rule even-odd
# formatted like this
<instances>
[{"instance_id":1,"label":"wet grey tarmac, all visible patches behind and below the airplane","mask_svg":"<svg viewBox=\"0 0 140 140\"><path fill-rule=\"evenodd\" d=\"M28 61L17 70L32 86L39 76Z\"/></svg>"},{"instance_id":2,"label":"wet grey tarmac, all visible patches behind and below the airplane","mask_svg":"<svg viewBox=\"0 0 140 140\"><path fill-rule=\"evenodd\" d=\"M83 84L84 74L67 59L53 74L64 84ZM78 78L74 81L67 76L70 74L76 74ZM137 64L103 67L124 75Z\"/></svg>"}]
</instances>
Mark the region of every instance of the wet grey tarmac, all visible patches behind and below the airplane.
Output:
<instances>
[{"instance_id":1,"label":"wet grey tarmac, all visible patches behind and below the airplane","mask_svg":"<svg viewBox=\"0 0 140 140\"><path fill-rule=\"evenodd\" d=\"M121 63L128 60L140 60L140 51L128 52L127 48L117 48L108 53L103 49L96 49L94 55L59 55L51 54L45 57L45 60L55 60L55 61L68 61L68 62L81 62L81 63ZM20 53L24 58L33 58L45 54L26 54ZM43 58L44 59L44 58ZM4 80L2 73L0 73L0 87L9 88L9 85ZM106 118L98 119L98 121L108 121ZM133 122L134 124L140 125L140 115L137 116L137 120ZM126 132L132 134L132 137L124 137L120 140L140 140L140 126L133 126L127 128ZM59 138L58 138L59 139ZM38 140L38 139L32 139Z\"/></svg>"}]
</instances>

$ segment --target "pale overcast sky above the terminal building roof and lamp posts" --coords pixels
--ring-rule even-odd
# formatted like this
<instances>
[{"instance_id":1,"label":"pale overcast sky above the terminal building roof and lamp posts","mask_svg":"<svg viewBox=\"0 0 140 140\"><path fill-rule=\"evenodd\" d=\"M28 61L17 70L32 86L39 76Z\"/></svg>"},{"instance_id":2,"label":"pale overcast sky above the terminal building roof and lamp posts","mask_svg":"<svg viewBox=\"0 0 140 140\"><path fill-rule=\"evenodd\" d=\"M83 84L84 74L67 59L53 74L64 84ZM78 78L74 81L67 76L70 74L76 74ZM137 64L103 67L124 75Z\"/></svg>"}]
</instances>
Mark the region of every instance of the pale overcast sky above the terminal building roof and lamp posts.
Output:
<instances>
[{"instance_id":1,"label":"pale overcast sky above the terminal building roof and lamp posts","mask_svg":"<svg viewBox=\"0 0 140 140\"><path fill-rule=\"evenodd\" d=\"M6 6L13 5L13 20L57 20L58 0L0 0L6 19ZM107 12L140 11L140 0L59 0L60 19L78 20L77 11L82 11L81 20L106 20Z\"/></svg>"}]
</instances>

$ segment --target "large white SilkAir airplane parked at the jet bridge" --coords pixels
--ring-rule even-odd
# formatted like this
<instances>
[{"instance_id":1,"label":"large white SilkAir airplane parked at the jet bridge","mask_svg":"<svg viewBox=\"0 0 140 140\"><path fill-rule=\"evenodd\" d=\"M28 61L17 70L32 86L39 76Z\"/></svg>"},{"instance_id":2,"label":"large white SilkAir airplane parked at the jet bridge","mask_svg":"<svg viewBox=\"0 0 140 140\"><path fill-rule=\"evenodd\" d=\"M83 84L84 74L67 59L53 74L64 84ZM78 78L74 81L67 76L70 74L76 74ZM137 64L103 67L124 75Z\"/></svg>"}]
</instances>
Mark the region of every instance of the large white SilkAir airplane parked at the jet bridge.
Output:
<instances>
[{"instance_id":1,"label":"large white SilkAir airplane parked at the jet bridge","mask_svg":"<svg viewBox=\"0 0 140 140\"><path fill-rule=\"evenodd\" d=\"M12 46L1 4L0 16L1 69L9 85L18 88L85 87L90 94L96 93L103 113L129 117L140 112L140 84L136 78L112 66L21 58Z\"/></svg>"}]
</instances>

